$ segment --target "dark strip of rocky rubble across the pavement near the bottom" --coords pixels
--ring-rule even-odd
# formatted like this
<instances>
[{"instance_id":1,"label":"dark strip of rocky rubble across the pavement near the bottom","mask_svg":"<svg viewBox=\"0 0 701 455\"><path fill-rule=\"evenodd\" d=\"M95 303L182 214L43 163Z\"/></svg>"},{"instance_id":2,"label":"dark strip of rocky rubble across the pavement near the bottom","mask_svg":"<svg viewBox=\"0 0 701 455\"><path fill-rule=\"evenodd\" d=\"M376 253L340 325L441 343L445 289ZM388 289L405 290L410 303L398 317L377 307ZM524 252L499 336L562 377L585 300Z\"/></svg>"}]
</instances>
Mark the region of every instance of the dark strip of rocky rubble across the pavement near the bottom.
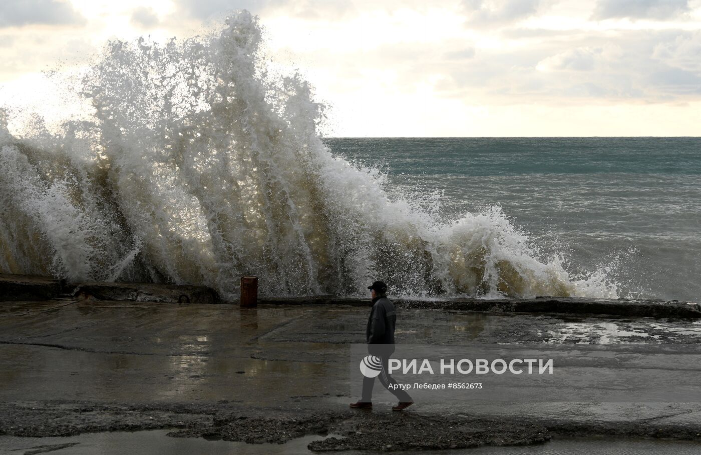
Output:
<instances>
[{"instance_id":1,"label":"dark strip of rocky rubble across the pavement near the bottom","mask_svg":"<svg viewBox=\"0 0 701 455\"><path fill-rule=\"evenodd\" d=\"M518 416L466 416L416 412L250 409L233 402L97 404L0 403L0 435L69 436L102 431L176 428L172 437L205 437L251 444L283 444L304 435L339 435L311 442L313 451L419 451L483 445L538 444L553 436L648 437L701 440L695 424L640 419L576 421Z\"/></svg>"}]
</instances>

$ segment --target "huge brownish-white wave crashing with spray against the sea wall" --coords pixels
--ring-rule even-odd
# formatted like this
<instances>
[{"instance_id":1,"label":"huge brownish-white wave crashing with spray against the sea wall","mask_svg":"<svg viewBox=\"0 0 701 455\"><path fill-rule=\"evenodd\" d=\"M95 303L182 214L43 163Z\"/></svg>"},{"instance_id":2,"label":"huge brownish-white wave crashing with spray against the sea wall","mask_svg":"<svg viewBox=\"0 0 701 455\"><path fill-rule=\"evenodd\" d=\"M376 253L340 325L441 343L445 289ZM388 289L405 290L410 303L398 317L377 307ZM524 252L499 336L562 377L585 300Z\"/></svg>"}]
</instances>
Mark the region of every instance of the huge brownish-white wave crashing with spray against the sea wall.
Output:
<instances>
[{"instance_id":1,"label":"huge brownish-white wave crashing with spray against the sea wall","mask_svg":"<svg viewBox=\"0 0 701 455\"><path fill-rule=\"evenodd\" d=\"M0 271L276 295L617 297L572 279L499 208L450 223L322 144L300 76L266 72L246 11L218 36L109 43L82 83L94 109L52 135L0 118Z\"/></svg>"}]
</instances>

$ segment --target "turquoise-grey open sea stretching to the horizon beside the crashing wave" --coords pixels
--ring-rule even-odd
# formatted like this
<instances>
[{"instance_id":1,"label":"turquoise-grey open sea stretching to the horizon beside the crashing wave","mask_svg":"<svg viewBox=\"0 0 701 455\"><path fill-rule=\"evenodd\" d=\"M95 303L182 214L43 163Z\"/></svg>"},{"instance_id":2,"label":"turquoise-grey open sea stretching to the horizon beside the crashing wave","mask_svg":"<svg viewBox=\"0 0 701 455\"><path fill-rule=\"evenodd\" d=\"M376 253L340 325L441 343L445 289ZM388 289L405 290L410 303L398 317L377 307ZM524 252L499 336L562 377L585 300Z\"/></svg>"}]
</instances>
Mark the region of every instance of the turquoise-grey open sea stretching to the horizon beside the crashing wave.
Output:
<instances>
[{"instance_id":1,"label":"turquoise-grey open sea stretching to the horizon beside the crashing wave","mask_svg":"<svg viewBox=\"0 0 701 455\"><path fill-rule=\"evenodd\" d=\"M449 221L492 205L571 273L605 269L620 297L701 301L701 138L327 138L386 172L390 193L437 191Z\"/></svg>"}]
</instances>

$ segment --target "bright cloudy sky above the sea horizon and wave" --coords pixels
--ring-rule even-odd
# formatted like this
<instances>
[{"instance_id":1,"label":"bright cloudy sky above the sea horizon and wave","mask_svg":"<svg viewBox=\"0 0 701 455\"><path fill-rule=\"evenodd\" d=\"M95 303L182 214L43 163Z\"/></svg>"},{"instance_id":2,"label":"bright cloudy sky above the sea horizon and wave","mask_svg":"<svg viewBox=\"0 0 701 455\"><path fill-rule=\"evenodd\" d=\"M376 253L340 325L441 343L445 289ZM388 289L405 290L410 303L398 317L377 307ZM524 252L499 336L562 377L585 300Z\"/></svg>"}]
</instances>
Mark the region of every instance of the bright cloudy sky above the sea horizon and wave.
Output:
<instances>
[{"instance_id":1,"label":"bright cloudy sky above the sea horizon and wave","mask_svg":"<svg viewBox=\"0 0 701 455\"><path fill-rule=\"evenodd\" d=\"M1 0L0 103L60 116L42 72L236 8L328 135L701 135L701 0Z\"/></svg>"}]
</instances>

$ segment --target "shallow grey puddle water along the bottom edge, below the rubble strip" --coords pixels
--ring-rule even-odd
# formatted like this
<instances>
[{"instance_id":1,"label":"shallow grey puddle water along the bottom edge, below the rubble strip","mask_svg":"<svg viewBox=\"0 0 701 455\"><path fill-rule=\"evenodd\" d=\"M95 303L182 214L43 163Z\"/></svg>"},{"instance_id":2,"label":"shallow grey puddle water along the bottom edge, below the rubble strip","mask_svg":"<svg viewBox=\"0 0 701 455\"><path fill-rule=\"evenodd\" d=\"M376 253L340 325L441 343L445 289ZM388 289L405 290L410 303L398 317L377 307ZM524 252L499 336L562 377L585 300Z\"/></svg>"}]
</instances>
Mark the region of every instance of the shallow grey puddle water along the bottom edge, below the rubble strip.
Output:
<instances>
[{"instance_id":1,"label":"shallow grey puddle water along the bottom edge, below the rubble strip","mask_svg":"<svg viewBox=\"0 0 701 455\"><path fill-rule=\"evenodd\" d=\"M286 444L246 444L203 438L168 437L170 430L86 433L69 437L0 436L1 454L56 455L297 455L312 454L312 441L338 435L308 435ZM328 452L326 452L328 453ZM346 455L379 454L375 451L343 451ZM416 452L393 452L397 455ZM701 453L701 442L610 438L571 438L545 444L515 447L421 451L423 455L691 455Z\"/></svg>"}]
</instances>

